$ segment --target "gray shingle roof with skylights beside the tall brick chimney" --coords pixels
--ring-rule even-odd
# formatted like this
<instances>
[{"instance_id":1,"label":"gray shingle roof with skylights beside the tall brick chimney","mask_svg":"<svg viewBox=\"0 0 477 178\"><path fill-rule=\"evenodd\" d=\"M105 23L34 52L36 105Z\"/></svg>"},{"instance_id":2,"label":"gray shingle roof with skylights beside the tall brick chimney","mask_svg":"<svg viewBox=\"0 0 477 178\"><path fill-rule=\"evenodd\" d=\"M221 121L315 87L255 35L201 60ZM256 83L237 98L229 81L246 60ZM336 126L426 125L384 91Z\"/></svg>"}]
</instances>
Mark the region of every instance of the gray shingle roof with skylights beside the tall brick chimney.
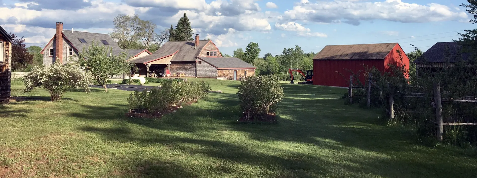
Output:
<instances>
[{"instance_id":1,"label":"gray shingle roof with skylights beside the tall brick chimney","mask_svg":"<svg viewBox=\"0 0 477 178\"><path fill-rule=\"evenodd\" d=\"M91 42L94 40L98 42L98 45L111 47L113 50L120 50L121 48L116 44L116 42L108 34L102 33L90 33L82 31L71 31L63 30L63 35L68 38L71 44L79 51L83 51L83 47L87 48L91 45ZM83 38L87 43L81 43L78 38ZM106 40L109 45L104 45L101 40Z\"/></svg>"}]
</instances>

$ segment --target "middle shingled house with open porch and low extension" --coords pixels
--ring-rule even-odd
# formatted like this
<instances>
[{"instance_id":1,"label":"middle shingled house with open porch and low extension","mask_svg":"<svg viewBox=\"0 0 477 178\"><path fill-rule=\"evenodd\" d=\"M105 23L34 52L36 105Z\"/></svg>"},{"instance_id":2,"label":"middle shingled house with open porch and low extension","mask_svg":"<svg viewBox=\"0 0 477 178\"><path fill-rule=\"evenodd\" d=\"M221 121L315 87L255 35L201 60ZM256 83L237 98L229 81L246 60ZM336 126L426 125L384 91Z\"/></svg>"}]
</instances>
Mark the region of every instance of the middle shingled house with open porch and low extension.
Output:
<instances>
[{"instance_id":1,"label":"middle shingled house with open porch and low extension","mask_svg":"<svg viewBox=\"0 0 477 178\"><path fill-rule=\"evenodd\" d=\"M152 72L165 74L183 73L187 77L224 78L239 80L255 75L255 66L239 58L222 57L212 40L168 41L152 55L131 59L140 68L139 75Z\"/></svg>"}]
</instances>

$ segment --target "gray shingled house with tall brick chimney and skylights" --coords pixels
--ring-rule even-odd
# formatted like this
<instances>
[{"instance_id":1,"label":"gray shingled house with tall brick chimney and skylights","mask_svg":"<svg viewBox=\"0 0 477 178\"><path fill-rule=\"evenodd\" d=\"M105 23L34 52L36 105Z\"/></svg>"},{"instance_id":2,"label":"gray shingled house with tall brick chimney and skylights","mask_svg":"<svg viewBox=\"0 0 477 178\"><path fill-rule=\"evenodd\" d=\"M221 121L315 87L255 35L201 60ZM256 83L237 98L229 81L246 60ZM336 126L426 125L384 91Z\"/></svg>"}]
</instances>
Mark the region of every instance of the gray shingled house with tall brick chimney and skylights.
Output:
<instances>
[{"instance_id":1,"label":"gray shingled house with tall brick chimney and skylights","mask_svg":"<svg viewBox=\"0 0 477 178\"><path fill-rule=\"evenodd\" d=\"M112 55L125 52L129 59L152 54L145 49L121 49L108 34L90 33L72 30L63 30L63 23L56 22L56 34L50 42L41 50L43 54L43 64L52 65L53 62L61 61L62 64L72 63L78 60L78 54L91 45L91 42L98 42L99 45L110 47ZM63 44L57 47L56 44Z\"/></svg>"}]
</instances>

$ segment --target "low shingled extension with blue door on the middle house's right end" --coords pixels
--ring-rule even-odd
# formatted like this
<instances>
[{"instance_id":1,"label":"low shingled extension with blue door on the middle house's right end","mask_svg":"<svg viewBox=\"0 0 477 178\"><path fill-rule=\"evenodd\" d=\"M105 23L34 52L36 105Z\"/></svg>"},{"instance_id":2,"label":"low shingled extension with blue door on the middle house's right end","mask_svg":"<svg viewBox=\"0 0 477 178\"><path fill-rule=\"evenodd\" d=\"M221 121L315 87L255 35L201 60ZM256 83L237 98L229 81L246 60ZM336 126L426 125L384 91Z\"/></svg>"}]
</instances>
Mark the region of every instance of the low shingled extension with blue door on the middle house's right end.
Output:
<instances>
[{"instance_id":1,"label":"low shingled extension with blue door on the middle house's right end","mask_svg":"<svg viewBox=\"0 0 477 178\"><path fill-rule=\"evenodd\" d=\"M255 75L255 66L236 57L197 57L197 75L240 80Z\"/></svg>"}]
</instances>

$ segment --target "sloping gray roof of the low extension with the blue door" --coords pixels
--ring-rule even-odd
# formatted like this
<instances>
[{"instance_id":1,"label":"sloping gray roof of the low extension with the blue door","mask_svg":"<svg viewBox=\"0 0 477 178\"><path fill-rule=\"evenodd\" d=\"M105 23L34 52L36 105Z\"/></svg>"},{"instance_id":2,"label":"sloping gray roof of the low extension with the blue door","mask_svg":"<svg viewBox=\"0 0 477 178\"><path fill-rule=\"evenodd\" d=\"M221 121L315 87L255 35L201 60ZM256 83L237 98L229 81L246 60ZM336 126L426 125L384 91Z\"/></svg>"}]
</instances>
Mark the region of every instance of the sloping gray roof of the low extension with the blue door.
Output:
<instances>
[{"instance_id":1,"label":"sloping gray roof of the low extension with the blue door","mask_svg":"<svg viewBox=\"0 0 477 178\"><path fill-rule=\"evenodd\" d=\"M214 66L218 69L227 68L242 68L242 69L255 69L257 67L250 65L249 63L240 60L237 57L197 57L202 61Z\"/></svg>"}]
</instances>

